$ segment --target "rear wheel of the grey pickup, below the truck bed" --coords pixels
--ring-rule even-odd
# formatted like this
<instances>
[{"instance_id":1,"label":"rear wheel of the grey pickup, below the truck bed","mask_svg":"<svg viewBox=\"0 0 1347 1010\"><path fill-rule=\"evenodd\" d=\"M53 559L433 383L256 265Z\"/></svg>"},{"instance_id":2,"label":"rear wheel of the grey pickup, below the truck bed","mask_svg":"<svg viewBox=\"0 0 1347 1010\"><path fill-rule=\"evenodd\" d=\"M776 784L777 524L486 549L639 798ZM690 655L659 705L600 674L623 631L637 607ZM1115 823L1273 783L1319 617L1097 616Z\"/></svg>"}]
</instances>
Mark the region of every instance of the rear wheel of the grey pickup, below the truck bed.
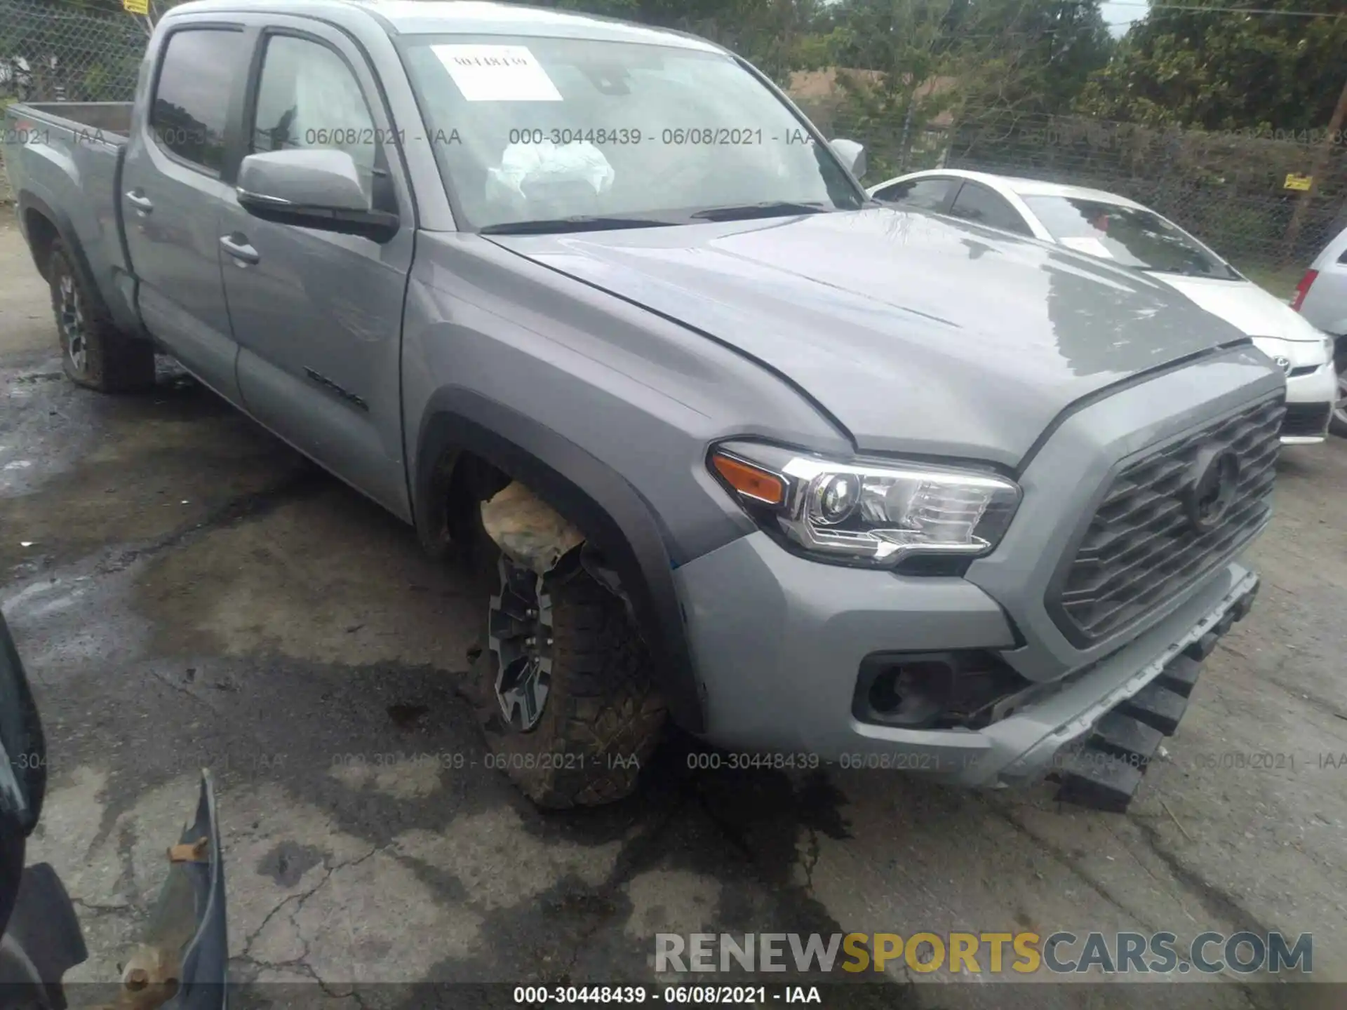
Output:
<instances>
[{"instance_id":1,"label":"rear wheel of the grey pickup, below the truck bed","mask_svg":"<svg viewBox=\"0 0 1347 1010\"><path fill-rule=\"evenodd\" d=\"M117 329L98 292L84 283L59 238L51 244L47 280L61 338L61 366L70 381L102 393L151 389L155 384L155 349ZM71 334L66 319L71 296L81 319L78 337Z\"/></svg>"}]
</instances>

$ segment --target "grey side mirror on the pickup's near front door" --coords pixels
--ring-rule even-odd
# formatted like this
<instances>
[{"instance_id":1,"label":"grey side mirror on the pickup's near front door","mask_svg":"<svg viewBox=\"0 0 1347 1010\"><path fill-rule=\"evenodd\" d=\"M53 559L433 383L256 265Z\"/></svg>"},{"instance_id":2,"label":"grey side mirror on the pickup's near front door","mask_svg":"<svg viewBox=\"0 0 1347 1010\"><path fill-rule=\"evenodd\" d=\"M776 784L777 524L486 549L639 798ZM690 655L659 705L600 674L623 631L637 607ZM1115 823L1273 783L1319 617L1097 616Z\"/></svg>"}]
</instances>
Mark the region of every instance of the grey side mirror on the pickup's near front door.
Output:
<instances>
[{"instance_id":1,"label":"grey side mirror on the pickup's near front door","mask_svg":"<svg viewBox=\"0 0 1347 1010\"><path fill-rule=\"evenodd\" d=\"M345 151L291 148L248 155L238 166L238 206L263 221L387 242L397 214L374 210Z\"/></svg>"}]
</instances>

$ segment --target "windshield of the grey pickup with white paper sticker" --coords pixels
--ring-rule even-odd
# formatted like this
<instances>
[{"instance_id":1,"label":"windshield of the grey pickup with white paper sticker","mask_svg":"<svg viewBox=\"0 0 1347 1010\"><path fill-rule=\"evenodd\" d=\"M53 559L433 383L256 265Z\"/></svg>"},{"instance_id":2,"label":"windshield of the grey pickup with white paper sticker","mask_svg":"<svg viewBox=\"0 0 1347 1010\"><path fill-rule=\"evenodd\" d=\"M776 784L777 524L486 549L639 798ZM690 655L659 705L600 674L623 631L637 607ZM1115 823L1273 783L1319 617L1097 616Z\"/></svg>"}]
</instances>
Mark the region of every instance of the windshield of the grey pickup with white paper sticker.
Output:
<instances>
[{"instance_id":1,"label":"windshield of the grey pickup with white paper sticker","mask_svg":"<svg viewBox=\"0 0 1347 1010\"><path fill-rule=\"evenodd\" d=\"M865 203L832 152L723 53L493 35L416 39L405 59L469 228L593 230Z\"/></svg>"}]
</instances>

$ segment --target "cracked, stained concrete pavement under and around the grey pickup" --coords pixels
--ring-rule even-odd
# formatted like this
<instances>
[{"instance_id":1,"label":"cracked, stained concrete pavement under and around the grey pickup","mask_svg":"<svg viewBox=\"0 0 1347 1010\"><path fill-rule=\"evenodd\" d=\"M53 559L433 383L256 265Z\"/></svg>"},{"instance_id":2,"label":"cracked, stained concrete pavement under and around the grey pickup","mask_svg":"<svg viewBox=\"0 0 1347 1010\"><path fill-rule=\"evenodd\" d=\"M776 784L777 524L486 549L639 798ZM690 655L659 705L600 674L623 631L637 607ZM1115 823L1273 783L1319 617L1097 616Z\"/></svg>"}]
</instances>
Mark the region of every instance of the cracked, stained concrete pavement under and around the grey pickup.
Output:
<instances>
[{"instance_id":1,"label":"cracked, stained concrete pavement under and around the grey pickup","mask_svg":"<svg viewBox=\"0 0 1347 1010\"><path fill-rule=\"evenodd\" d=\"M1285 454L1258 606L1126 816L894 773L690 770L678 738L636 799L543 815L484 768L451 689L482 609L462 574L171 369L145 397L66 382L44 285L0 225L0 606L47 723L31 856L78 902L78 980L116 978L203 765L234 978L333 1003L651 982L653 933L698 931L1282 929L1313 932L1316 978L1344 980L1347 765L1320 757L1347 751L1344 492L1347 443ZM1222 766L1250 753L1293 766ZM865 988L876 1006L1156 999L902 971ZM1220 978L1165 1002L1286 1006L1284 988Z\"/></svg>"}]
</instances>

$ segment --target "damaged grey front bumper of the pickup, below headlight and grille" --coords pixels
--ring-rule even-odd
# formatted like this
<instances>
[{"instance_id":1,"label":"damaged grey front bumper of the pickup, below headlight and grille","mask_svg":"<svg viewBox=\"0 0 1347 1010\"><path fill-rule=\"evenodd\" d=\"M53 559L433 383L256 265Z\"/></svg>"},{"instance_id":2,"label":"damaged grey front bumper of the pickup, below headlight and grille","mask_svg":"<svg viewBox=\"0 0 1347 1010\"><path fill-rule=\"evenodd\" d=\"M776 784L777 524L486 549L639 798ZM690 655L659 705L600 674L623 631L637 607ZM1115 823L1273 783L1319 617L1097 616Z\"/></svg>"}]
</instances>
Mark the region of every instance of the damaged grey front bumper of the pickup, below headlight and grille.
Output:
<instances>
[{"instance_id":1,"label":"damaged grey front bumper of the pickup, below headlight and grille","mask_svg":"<svg viewBox=\"0 0 1347 1010\"><path fill-rule=\"evenodd\" d=\"M676 578L710 743L791 754L793 766L803 758L975 788L1053 776L1064 799L1110 809L1136 790L1183 714L1196 664L1258 587L1257 575L1230 563L1115 652L1043 681L989 725L916 729L857 718L862 664L890 650L1013 652L1004 611L978 586L820 566L757 535L682 566Z\"/></svg>"}]
</instances>

